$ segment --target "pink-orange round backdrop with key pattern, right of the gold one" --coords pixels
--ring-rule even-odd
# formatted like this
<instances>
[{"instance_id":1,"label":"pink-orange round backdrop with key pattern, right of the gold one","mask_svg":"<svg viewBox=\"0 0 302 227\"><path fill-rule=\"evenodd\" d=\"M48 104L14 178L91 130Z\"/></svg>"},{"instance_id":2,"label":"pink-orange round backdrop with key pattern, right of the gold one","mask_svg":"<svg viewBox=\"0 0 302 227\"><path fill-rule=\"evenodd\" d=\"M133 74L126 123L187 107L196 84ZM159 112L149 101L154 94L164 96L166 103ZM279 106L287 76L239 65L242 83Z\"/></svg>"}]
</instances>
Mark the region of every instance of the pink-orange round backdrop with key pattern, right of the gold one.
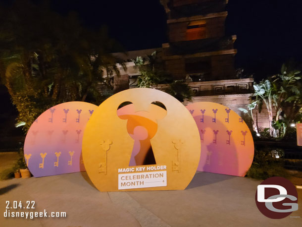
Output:
<instances>
[{"instance_id":1,"label":"pink-orange round backdrop with key pattern, right of the gold one","mask_svg":"<svg viewBox=\"0 0 302 227\"><path fill-rule=\"evenodd\" d=\"M211 102L186 106L200 132L199 171L245 176L252 165L254 143L246 122L234 111Z\"/></svg>"}]
</instances>

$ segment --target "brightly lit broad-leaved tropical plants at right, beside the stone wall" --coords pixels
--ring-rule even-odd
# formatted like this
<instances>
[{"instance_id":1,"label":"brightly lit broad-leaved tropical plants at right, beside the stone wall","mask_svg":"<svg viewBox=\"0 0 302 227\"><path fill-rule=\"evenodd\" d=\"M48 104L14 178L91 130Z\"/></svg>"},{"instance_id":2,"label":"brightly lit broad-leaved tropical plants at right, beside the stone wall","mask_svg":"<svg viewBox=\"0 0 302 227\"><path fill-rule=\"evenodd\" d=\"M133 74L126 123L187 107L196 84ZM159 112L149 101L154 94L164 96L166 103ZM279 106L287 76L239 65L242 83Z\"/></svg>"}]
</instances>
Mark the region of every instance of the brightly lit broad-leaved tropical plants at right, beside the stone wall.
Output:
<instances>
[{"instance_id":1,"label":"brightly lit broad-leaved tropical plants at right, beside the stone wall","mask_svg":"<svg viewBox=\"0 0 302 227\"><path fill-rule=\"evenodd\" d=\"M256 101L250 106L250 116L253 120L252 110L261 111L264 103L268 112L269 132L272 137L284 137L288 125L302 119L302 76L301 71L282 65L281 74L269 77L254 83ZM258 98L259 97L259 98ZM255 105L254 105L255 104ZM259 104L259 106L257 106ZM258 109L258 110L257 110ZM247 110L240 109L247 113Z\"/></svg>"}]
</instances>

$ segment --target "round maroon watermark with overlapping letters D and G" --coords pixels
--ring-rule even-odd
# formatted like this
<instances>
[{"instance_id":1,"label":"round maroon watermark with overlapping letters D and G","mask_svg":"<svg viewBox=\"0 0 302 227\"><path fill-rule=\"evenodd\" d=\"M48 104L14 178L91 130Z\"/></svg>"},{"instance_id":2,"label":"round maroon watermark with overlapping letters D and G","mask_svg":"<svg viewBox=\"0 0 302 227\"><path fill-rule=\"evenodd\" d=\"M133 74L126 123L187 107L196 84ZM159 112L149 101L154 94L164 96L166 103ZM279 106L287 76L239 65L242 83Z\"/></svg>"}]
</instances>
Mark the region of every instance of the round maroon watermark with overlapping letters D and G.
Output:
<instances>
[{"instance_id":1,"label":"round maroon watermark with overlapping letters D and G","mask_svg":"<svg viewBox=\"0 0 302 227\"><path fill-rule=\"evenodd\" d=\"M282 219L298 210L296 187L279 176L262 181L257 186L255 200L259 211L271 219Z\"/></svg>"}]
</instances>

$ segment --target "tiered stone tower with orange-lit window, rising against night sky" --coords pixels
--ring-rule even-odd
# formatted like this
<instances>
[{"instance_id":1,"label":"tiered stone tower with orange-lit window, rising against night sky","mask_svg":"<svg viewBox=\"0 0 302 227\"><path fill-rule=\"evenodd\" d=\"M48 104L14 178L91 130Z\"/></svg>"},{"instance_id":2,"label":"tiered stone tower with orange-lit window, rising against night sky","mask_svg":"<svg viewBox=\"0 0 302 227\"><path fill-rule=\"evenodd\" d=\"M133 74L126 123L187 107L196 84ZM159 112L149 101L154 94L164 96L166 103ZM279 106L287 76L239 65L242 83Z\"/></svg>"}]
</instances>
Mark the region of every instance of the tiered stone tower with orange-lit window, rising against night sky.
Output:
<instances>
[{"instance_id":1,"label":"tiered stone tower with orange-lit window, rising against night sky","mask_svg":"<svg viewBox=\"0 0 302 227\"><path fill-rule=\"evenodd\" d=\"M175 79L235 79L236 36L225 36L226 4L227 0L167 2L169 43L162 46L163 60Z\"/></svg>"}]
</instances>

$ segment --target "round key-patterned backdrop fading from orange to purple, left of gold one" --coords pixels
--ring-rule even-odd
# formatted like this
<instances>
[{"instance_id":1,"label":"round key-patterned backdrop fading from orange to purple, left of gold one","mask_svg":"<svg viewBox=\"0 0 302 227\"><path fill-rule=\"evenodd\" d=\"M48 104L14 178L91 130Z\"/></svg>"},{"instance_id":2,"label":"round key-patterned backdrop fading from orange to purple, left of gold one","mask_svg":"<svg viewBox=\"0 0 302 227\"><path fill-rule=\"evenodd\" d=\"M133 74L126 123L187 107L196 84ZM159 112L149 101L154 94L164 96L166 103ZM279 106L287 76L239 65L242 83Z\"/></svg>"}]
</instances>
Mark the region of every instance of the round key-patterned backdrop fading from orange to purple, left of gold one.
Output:
<instances>
[{"instance_id":1,"label":"round key-patterned backdrop fading from orange to purple, left of gold one","mask_svg":"<svg viewBox=\"0 0 302 227\"><path fill-rule=\"evenodd\" d=\"M96 108L85 102L62 103L33 122L25 138L24 157L35 177L85 170L83 132Z\"/></svg>"}]
</instances>

